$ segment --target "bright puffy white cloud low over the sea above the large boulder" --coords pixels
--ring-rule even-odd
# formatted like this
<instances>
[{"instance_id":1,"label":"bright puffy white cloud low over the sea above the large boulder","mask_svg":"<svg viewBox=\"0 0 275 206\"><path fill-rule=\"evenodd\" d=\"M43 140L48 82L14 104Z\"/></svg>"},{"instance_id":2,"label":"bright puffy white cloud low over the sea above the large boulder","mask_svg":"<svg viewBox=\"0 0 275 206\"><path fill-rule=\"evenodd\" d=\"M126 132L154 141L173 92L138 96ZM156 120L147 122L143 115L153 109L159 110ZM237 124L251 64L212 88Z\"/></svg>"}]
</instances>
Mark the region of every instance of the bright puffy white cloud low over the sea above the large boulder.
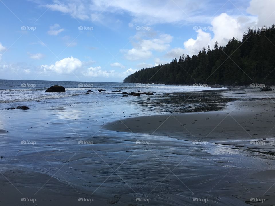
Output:
<instances>
[{"instance_id":1,"label":"bright puffy white cloud low over the sea above the large boulder","mask_svg":"<svg viewBox=\"0 0 275 206\"><path fill-rule=\"evenodd\" d=\"M69 74L81 67L82 62L79 59L73 57L64 58L50 66L41 65L41 68L44 68L44 70L55 71L58 74Z\"/></svg>"}]
</instances>

